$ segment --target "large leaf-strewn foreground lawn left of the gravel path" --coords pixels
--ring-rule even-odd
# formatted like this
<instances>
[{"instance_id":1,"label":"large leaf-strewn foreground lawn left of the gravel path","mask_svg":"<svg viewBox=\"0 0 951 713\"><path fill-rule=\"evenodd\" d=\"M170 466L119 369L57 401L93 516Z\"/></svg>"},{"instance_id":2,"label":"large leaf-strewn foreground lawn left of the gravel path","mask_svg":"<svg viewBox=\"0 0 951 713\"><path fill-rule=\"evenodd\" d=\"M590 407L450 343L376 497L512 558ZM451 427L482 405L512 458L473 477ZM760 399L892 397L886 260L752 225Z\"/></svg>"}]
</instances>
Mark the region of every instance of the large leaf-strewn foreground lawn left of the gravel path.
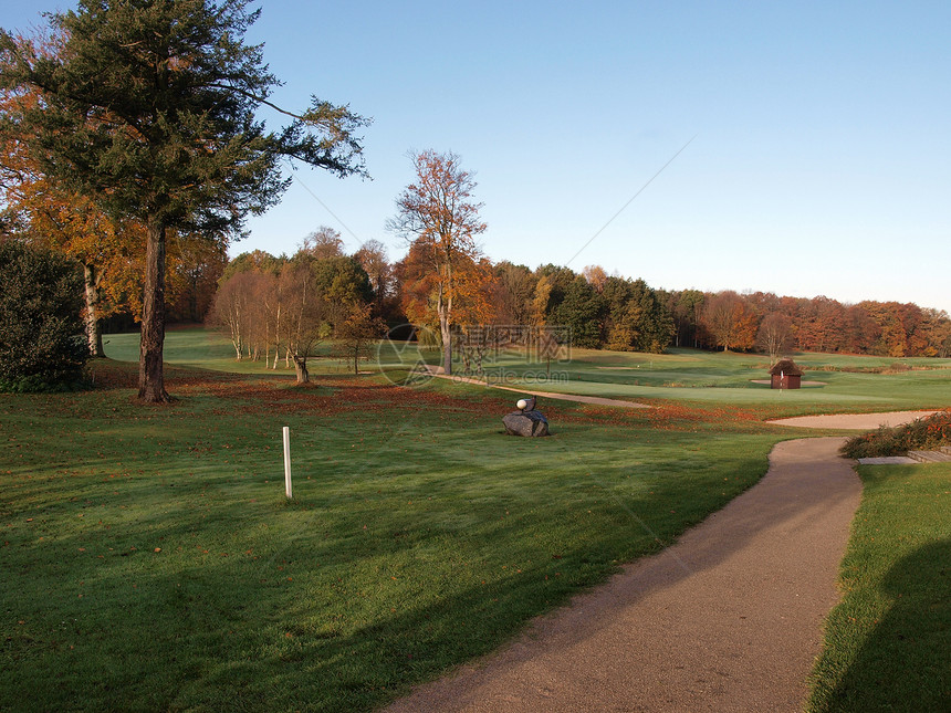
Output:
<instances>
[{"instance_id":1,"label":"large leaf-strewn foreground lawn left of the gravel path","mask_svg":"<svg viewBox=\"0 0 951 713\"><path fill-rule=\"evenodd\" d=\"M765 472L791 434L764 418L817 408L545 402L554 437L522 440L511 394L237 366L169 368L168 407L108 361L0 395L0 710L369 710L672 542Z\"/></svg>"}]
</instances>

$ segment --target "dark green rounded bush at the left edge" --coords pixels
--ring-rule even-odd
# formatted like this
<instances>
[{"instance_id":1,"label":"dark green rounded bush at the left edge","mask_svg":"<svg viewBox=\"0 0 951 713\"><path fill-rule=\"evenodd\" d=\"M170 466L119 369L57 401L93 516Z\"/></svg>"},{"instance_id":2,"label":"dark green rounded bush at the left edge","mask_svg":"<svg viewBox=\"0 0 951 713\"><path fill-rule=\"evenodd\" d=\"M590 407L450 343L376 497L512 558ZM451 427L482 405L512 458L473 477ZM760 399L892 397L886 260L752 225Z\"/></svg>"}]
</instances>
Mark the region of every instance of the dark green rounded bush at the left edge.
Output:
<instances>
[{"instance_id":1,"label":"dark green rounded bush at the left edge","mask_svg":"<svg viewBox=\"0 0 951 713\"><path fill-rule=\"evenodd\" d=\"M82 379L83 281L63 255L0 242L0 389L45 391Z\"/></svg>"}]
</instances>

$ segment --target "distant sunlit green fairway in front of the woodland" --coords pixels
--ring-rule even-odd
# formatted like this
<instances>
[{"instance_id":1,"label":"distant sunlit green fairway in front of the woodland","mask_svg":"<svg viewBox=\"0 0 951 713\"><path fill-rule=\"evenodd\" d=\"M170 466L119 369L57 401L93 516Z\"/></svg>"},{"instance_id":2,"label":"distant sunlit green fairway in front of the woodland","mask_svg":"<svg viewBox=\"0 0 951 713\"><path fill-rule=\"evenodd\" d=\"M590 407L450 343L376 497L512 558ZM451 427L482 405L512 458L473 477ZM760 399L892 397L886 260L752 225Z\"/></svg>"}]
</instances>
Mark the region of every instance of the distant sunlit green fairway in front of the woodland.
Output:
<instances>
[{"instance_id":1,"label":"distant sunlit green fairway in front of the woodland","mask_svg":"<svg viewBox=\"0 0 951 713\"><path fill-rule=\"evenodd\" d=\"M106 354L121 360L138 359L138 335L106 337ZM436 352L384 344L360 368L391 373L417 360L439 363ZM321 358L311 359L313 374L344 374L352 367L330 358L330 344L321 345ZM951 359L797 354L807 385L798 390L773 390L754 380L769 378L769 359L756 354L671 349L669 354L635 354L571 349L561 363L533 363L525 355L503 352L483 364L497 382L526 389L603 396L659 403L682 401L752 408L772 417L826 412L876 412L944 408L951 403ZM201 327L173 329L166 338L166 359L182 366L274 374L262 361L236 361L234 349L220 333ZM892 371L901 365L908 370ZM550 367L550 368L548 368ZM462 365L454 367L462 370ZM877 374L874 370L886 370ZM278 374L293 373L280 361ZM399 378L397 373L395 378Z\"/></svg>"}]
</instances>

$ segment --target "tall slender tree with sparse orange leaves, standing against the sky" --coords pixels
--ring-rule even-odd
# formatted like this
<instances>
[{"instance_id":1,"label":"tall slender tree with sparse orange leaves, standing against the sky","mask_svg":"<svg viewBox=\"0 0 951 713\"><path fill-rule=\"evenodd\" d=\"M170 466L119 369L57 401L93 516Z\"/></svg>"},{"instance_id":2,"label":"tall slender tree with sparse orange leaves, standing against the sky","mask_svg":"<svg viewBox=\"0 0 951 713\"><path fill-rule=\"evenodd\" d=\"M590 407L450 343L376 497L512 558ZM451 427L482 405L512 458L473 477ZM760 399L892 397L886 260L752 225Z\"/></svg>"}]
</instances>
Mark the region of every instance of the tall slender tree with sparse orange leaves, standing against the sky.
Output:
<instances>
[{"instance_id":1,"label":"tall slender tree with sparse orange leaves, standing against the sky","mask_svg":"<svg viewBox=\"0 0 951 713\"><path fill-rule=\"evenodd\" d=\"M477 184L456 154L430 149L410 158L416 180L396 199L397 214L387 227L411 241L412 266L421 270L406 274L417 287L428 287L442 337L442 369L450 374L454 310L473 296L463 286L471 286L467 273L479 264L476 239L485 230L479 218L482 203L473 202Z\"/></svg>"}]
</instances>

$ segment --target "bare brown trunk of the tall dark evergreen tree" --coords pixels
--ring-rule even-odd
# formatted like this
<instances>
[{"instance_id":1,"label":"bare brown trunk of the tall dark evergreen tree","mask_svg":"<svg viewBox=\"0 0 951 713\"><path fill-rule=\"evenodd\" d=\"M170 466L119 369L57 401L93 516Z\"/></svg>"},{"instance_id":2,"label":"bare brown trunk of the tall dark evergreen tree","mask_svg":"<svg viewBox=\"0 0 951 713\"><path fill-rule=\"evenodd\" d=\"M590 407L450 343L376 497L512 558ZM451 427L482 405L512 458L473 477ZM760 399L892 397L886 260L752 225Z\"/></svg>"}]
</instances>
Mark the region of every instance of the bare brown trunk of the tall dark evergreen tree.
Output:
<instances>
[{"instance_id":1,"label":"bare brown trunk of the tall dark evergreen tree","mask_svg":"<svg viewBox=\"0 0 951 713\"><path fill-rule=\"evenodd\" d=\"M138 356L138 398L146 403L170 400L165 390L161 364L165 346L165 230L160 219L149 218Z\"/></svg>"}]
</instances>

